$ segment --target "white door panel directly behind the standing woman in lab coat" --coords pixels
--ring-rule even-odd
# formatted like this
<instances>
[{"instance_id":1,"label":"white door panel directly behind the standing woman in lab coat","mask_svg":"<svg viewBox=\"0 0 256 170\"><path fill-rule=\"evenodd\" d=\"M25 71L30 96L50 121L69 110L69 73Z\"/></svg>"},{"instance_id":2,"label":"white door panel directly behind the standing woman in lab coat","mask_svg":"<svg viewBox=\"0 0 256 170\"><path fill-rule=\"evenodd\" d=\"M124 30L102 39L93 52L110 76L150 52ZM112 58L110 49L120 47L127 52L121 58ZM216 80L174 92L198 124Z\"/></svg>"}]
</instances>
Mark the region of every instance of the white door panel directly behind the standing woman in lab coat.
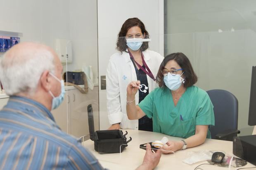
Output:
<instances>
[{"instance_id":1,"label":"white door panel directly behind the standing woman in lab coat","mask_svg":"<svg viewBox=\"0 0 256 170\"><path fill-rule=\"evenodd\" d=\"M107 64L116 53L116 40L126 19L138 17L149 32L152 42L149 49L164 55L164 6L163 0L98 0L98 54L100 76L106 75ZM100 85L100 83L99 83ZM99 87L100 129L109 128L106 90Z\"/></svg>"}]
</instances>

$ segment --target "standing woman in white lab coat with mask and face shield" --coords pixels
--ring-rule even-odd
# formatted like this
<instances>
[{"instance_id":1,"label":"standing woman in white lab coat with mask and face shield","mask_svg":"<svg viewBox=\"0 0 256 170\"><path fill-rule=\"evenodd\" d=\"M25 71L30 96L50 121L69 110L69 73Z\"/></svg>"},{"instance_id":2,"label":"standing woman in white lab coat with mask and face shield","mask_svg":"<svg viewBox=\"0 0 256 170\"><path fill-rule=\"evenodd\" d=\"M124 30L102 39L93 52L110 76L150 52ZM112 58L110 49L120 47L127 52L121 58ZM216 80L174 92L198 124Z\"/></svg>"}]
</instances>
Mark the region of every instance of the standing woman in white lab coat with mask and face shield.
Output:
<instances>
[{"instance_id":1,"label":"standing woman in white lab coat with mask and face shield","mask_svg":"<svg viewBox=\"0 0 256 170\"><path fill-rule=\"evenodd\" d=\"M135 95L136 105L156 88L155 77L164 57L148 50L149 33L137 18L127 19L119 32L116 49L107 67L107 111L109 129L129 128L153 131L152 119L147 116L129 120L126 114L126 88L131 81L143 85Z\"/></svg>"}]
</instances>

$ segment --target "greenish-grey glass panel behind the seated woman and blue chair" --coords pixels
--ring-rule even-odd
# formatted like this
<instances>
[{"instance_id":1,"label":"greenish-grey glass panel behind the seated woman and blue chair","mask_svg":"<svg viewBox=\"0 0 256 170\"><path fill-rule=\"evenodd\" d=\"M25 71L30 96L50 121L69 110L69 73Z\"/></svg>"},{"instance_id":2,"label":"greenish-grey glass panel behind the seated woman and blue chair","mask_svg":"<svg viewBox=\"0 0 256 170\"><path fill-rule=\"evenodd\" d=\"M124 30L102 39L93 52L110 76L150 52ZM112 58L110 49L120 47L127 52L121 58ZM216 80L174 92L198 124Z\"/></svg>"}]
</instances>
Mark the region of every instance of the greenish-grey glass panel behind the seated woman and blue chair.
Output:
<instances>
[{"instance_id":1,"label":"greenish-grey glass panel behind the seated woman and blue chair","mask_svg":"<svg viewBox=\"0 0 256 170\"><path fill-rule=\"evenodd\" d=\"M200 88L224 89L237 97L241 135L252 132L247 123L256 65L255 5L252 0L166 0L166 54L187 55Z\"/></svg>"}]
</instances>

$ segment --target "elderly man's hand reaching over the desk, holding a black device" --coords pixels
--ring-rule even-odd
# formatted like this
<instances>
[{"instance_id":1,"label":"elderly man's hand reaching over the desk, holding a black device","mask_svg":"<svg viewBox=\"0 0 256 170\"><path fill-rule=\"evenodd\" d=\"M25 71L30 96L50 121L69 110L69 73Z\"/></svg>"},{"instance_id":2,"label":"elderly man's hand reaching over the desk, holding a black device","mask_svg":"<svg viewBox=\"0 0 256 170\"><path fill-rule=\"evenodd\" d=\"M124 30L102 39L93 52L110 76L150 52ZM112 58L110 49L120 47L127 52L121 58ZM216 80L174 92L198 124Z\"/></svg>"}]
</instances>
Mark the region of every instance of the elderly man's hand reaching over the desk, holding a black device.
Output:
<instances>
[{"instance_id":1,"label":"elderly man's hand reaching over the desk, holding a black device","mask_svg":"<svg viewBox=\"0 0 256 170\"><path fill-rule=\"evenodd\" d=\"M157 150L153 153L151 151L150 144L147 144L146 147L146 154L144 156L143 163L136 170L153 170L160 161L161 151Z\"/></svg>"}]
</instances>

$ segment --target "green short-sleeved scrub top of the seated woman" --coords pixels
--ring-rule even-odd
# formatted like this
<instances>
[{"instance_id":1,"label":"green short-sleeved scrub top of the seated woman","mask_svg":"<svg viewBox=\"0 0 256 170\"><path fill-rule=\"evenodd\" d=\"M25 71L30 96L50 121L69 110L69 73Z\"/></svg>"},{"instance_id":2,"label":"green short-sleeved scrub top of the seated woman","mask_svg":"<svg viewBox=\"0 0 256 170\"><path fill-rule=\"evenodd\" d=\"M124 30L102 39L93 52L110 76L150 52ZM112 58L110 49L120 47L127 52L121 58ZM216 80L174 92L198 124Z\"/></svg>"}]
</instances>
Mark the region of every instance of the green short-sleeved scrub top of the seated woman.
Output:
<instances>
[{"instance_id":1,"label":"green short-sleeved scrub top of the seated woman","mask_svg":"<svg viewBox=\"0 0 256 170\"><path fill-rule=\"evenodd\" d=\"M153 131L187 138L195 134L196 125L214 126L213 104L206 91L190 86L174 105L169 88L155 88L138 105L153 119ZM207 138L211 138L208 129Z\"/></svg>"}]
</instances>

